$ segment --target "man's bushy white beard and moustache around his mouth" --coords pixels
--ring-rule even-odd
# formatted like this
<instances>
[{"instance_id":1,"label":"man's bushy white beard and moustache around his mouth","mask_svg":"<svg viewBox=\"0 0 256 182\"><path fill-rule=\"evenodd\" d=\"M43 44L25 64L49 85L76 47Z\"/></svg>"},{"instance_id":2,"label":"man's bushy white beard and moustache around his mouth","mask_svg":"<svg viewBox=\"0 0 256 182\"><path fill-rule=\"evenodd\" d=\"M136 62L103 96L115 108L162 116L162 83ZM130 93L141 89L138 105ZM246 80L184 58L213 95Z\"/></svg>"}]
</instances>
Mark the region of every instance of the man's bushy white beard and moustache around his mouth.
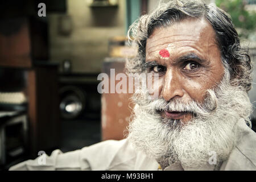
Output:
<instances>
[{"instance_id":1,"label":"man's bushy white beard and moustache around his mouth","mask_svg":"<svg viewBox=\"0 0 256 182\"><path fill-rule=\"evenodd\" d=\"M251 104L245 90L230 86L224 76L218 88L208 90L204 104L191 101L167 102L163 98L148 100L137 90L133 121L128 139L138 149L154 158L162 167L181 163L186 167L208 164L210 152L216 152L217 165L228 159L239 139L238 119L249 122ZM163 119L156 110L193 111L187 123Z\"/></svg>"}]
</instances>

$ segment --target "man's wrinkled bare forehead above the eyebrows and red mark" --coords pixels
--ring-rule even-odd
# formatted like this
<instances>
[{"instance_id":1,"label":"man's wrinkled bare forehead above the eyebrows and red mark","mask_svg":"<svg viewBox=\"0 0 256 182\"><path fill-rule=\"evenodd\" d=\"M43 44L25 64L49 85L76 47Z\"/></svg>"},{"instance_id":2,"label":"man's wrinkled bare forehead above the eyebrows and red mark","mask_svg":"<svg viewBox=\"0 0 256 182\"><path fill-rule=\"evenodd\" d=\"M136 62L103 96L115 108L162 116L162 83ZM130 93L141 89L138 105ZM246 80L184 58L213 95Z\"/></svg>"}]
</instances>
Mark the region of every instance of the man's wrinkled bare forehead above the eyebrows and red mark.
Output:
<instances>
[{"instance_id":1,"label":"man's wrinkled bare forehead above the eyebrows and red mark","mask_svg":"<svg viewBox=\"0 0 256 182\"><path fill-rule=\"evenodd\" d=\"M196 53L206 59L216 52L215 32L205 19L184 19L168 27L156 28L146 43L146 58L159 56L159 51L168 49L170 55Z\"/></svg>"}]
</instances>

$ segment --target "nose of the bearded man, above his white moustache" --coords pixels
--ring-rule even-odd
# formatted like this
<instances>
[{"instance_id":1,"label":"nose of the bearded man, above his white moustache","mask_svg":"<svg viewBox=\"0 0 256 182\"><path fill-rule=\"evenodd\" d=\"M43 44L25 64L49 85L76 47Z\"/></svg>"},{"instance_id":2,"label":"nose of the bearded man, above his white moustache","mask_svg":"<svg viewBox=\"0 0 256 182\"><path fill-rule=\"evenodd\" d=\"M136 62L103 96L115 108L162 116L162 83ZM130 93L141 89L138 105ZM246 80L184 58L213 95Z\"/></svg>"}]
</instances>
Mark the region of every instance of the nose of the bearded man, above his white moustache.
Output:
<instances>
[{"instance_id":1,"label":"nose of the bearded man, above his white moustache","mask_svg":"<svg viewBox=\"0 0 256 182\"><path fill-rule=\"evenodd\" d=\"M167 69L162 90L164 100L170 101L183 97L184 90L182 85L179 73L173 69Z\"/></svg>"}]
</instances>

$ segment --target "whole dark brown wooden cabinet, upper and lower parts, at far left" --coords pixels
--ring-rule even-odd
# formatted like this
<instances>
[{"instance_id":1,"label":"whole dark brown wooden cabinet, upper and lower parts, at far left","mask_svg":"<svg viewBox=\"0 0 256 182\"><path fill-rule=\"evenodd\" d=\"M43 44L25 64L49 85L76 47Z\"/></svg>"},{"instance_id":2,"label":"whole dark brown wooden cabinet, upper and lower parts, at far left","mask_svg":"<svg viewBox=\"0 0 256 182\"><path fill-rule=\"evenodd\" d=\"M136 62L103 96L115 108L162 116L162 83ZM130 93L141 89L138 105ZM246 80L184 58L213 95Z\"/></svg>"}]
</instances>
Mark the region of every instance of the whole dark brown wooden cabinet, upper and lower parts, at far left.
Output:
<instances>
[{"instance_id":1,"label":"whole dark brown wooden cabinet, upper and lower parts, at far left","mask_svg":"<svg viewBox=\"0 0 256 182\"><path fill-rule=\"evenodd\" d=\"M39 151L60 146L58 67L48 60L47 23L26 16L0 23L0 72L24 72L20 92L27 96L28 148L35 158ZM13 77L2 79L11 82Z\"/></svg>"}]
</instances>

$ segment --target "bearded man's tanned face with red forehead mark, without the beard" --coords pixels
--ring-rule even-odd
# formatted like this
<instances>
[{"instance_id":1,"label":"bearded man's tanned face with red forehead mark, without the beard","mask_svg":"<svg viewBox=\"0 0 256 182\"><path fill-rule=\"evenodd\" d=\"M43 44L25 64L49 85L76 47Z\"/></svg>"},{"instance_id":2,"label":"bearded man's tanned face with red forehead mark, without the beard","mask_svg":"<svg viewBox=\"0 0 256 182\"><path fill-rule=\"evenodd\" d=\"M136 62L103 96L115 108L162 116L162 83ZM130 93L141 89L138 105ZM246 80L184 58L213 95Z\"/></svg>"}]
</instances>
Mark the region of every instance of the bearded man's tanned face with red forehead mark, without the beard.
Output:
<instances>
[{"instance_id":1,"label":"bearded man's tanned face with red forehead mark, without the beard","mask_svg":"<svg viewBox=\"0 0 256 182\"><path fill-rule=\"evenodd\" d=\"M159 73L159 97L166 101L203 102L205 90L221 81L224 67L215 32L204 19L185 19L156 28L146 44L148 72ZM192 113L163 111L163 118L191 120Z\"/></svg>"}]
</instances>

